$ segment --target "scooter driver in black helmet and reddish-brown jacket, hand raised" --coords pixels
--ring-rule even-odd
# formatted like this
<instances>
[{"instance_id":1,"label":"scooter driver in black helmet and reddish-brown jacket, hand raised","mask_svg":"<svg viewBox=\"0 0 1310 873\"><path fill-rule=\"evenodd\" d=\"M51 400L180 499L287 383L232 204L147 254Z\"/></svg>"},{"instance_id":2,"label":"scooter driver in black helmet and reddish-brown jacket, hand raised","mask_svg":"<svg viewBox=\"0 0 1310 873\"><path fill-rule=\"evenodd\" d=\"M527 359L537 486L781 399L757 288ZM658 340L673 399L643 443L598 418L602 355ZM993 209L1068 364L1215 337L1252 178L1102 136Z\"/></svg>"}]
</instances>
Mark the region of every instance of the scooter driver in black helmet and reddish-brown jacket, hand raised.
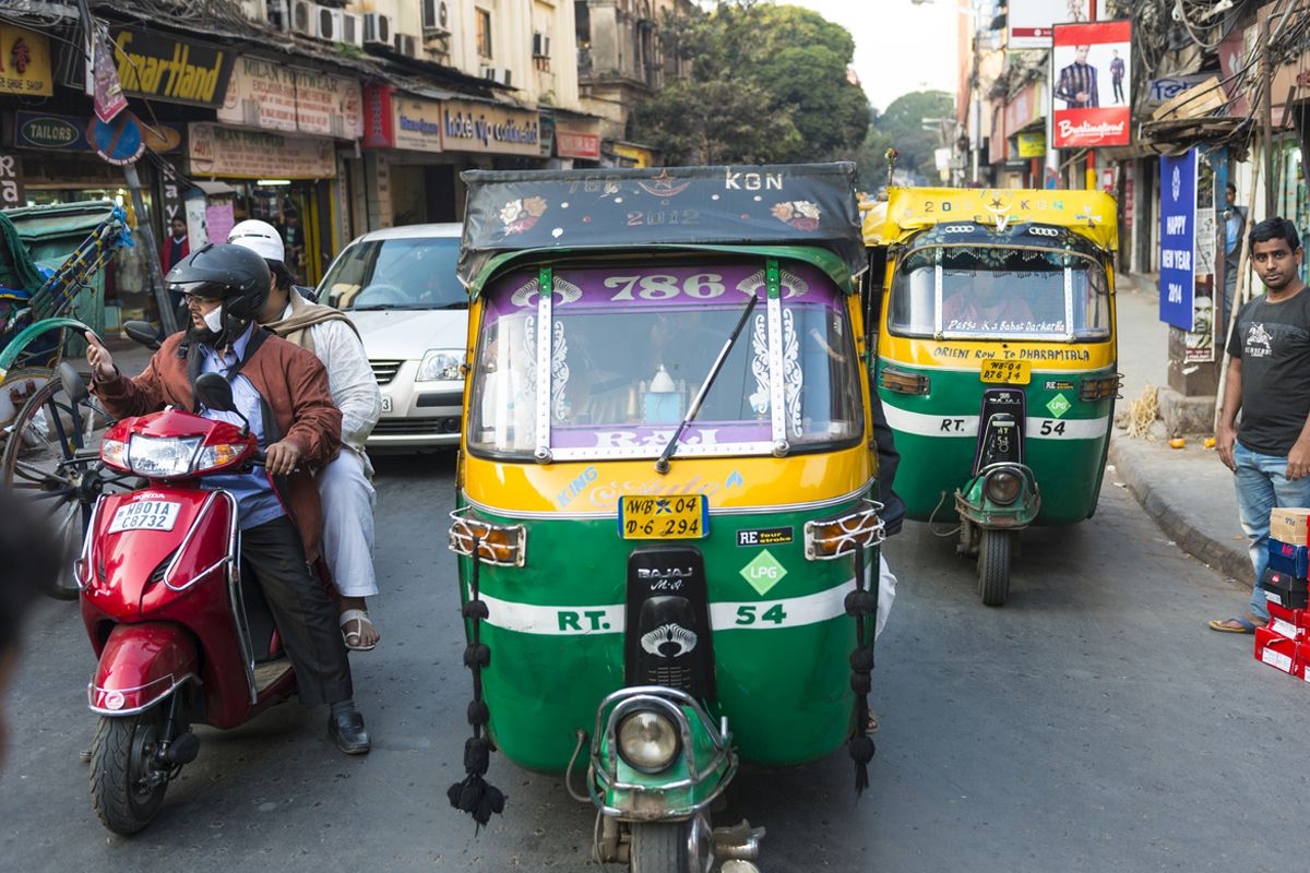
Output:
<instances>
[{"instance_id":1,"label":"scooter driver in black helmet and reddish-brown jacket, hand raised","mask_svg":"<svg viewBox=\"0 0 1310 873\"><path fill-rule=\"evenodd\" d=\"M242 558L272 610L300 700L329 704L328 732L337 746L347 754L367 753L368 733L352 700L337 610L310 571L320 531L318 490L310 472L341 448L341 411L331 402L328 374L317 357L255 323L269 298L270 275L263 258L249 249L206 246L166 279L186 300L191 315L186 331L165 339L135 378L124 378L88 332L93 390L119 418L170 404L240 423L238 416L195 401L202 373L227 377L237 410L265 450L266 472L210 476L206 486L237 499Z\"/></svg>"}]
</instances>

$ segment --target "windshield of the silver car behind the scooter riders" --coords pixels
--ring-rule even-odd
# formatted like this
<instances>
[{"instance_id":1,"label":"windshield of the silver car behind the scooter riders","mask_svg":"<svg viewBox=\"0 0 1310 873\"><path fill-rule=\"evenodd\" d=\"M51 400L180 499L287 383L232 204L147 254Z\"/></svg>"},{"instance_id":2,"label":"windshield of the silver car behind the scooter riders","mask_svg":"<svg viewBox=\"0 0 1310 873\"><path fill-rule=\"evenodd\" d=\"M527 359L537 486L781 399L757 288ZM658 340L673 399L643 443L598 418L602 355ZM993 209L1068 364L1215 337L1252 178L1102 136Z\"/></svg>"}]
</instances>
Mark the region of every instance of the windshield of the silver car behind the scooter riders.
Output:
<instances>
[{"instance_id":1,"label":"windshield of the silver car behind the scooter riders","mask_svg":"<svg viewBox=\"0 0 1310 873\"><path fill-rule=\"evenodd\" d=\"M338 309L457 309L468 296L455 275L458 237L364 240L337 259L320 300Z\"/></svg>"}]
</instances>

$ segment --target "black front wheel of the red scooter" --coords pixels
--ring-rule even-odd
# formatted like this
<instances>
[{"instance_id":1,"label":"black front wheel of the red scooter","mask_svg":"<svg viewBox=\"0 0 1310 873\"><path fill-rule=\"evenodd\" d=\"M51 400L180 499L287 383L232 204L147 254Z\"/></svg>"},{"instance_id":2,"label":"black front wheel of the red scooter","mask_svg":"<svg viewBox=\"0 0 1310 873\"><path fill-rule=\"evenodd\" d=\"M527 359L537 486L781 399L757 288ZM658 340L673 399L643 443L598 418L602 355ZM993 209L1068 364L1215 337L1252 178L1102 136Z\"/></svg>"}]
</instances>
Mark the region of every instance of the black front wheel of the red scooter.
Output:
<instances>
[{"instance_id":1,"label":"black front wheel of the red scooter","mask_svg":"<svg viewBox=\"0 0 1310 873\"><path fill-rule=\"evenodd\" d=\"M155 762L162 713L101 716L90 743L90 801L101 825L124 836L155 819L168 792L168 772Z\"/></svg>"}]
</instances>

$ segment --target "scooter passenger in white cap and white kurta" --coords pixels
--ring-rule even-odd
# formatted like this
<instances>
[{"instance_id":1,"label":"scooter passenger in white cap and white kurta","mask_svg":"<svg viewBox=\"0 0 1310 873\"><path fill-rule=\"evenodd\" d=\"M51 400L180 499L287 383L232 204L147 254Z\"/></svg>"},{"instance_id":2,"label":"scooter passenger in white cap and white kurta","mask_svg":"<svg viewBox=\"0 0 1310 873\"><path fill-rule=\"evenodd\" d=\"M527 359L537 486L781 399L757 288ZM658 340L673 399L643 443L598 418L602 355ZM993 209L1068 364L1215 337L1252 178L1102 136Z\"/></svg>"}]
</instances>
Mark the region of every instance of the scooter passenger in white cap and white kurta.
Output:
<instances>
[{"instance_id":1,"label":"scooter passenger in white cap and white kurta","mask_svg":"<svg viewBox=\"0 0 1310 873\"><path fill-rule=\"evenodd\" d=\"M343 313L305 300L291 284L278 232L265 221L242 221L228 242L257 251L274 276L269 305L259 323L313 352L328 369L333 402L341 408L342 453L317 474L324 510L322 552L341 594L346 647L367 652L379 633L368 616L367 598L377 594L373 572L373 467L364 441L383 412L383 395L364 344Z\"/></svg>"}]
</instances>

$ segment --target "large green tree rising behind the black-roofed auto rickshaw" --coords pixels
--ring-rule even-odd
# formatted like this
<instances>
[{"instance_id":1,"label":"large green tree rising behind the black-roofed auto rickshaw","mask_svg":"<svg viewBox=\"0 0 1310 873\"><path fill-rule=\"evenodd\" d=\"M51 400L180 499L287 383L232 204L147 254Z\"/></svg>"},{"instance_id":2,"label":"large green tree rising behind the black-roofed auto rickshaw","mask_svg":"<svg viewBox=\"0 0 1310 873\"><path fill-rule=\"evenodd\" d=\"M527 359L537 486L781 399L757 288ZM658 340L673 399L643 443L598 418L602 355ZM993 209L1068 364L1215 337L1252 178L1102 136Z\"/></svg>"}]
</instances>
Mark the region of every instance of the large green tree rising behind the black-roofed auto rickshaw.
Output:
<instances>
[{"instance_id":1,"label":"large green tree rising behind the black-roofed auto rickshaw","mask_svg":"<svg viewBox=\"0 0 1310 873\"><path fill-rule=\"evenodd\" d=\"M816 12L720 0L667 18L660 38L690 75L635 109L631 136L671 164L821 161L865 139L869 99L846 79L855 42Z\"/></svg>"}]
</instances>

